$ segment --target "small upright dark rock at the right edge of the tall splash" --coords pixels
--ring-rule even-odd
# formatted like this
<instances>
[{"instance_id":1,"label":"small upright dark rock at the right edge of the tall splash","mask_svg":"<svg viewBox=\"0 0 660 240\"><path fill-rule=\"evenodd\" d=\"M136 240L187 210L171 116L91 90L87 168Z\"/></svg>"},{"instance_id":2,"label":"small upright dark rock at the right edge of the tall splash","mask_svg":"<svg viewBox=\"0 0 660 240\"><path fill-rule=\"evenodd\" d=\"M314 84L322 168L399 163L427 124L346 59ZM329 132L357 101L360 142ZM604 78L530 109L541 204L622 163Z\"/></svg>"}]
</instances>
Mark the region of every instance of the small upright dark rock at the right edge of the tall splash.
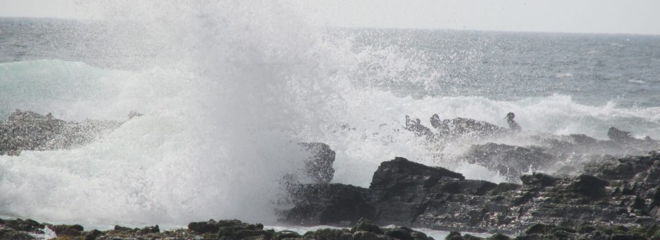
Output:
<instances>
[{"instance_id":1,"label":"small upright dark rock at the right edge of the tall splash","mask_svg":"<svg viewBox=\"0 0 660 240\"><path fill-rule=\"evenodd\" d=\"M335 151L325 143L298 143L303 151L308 152L304 171L316 183L328 183L335 174L332 164L335 162Z\"/></svg>"}]
</instances>

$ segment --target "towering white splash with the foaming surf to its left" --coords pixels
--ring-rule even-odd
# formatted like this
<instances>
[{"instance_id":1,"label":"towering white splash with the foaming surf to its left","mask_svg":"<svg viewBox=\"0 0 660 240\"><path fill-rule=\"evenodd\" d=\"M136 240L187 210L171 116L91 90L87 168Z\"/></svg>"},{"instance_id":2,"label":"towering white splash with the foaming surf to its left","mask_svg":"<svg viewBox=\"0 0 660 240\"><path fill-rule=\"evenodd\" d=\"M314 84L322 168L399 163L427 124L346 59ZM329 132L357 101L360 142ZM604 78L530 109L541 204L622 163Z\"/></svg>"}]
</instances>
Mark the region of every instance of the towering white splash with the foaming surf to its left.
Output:
<instances>
[{"instance_id":1,"label":"towering white splash with the foaming surf to its left","mask_svg":"<svg viewBox=\"0 0 660 240\"><path fill-rule=\"evenodd\" d=\"M279 182L304 159L298 141L318 141L298 132L318 129L306 127L316 119L331 121L309 106L340 102L322 78L329 69L318 58L327 50L287 19L283 5L197 4L103 6L118 14L105 19L118 21L111 31L137 25L145 32L98 39L99 50L103 43L149 38L166 54L145 59L133 73L91 76L113 87L97 90L104 97L71 99L75 113L54 109L65 117L106 117L94 113L106 109L138 110L144 117L80 149L2 157L2 209L55 220L274 220ZM91 67L72 67L85 68ZM47 110L58 105L48 99L62 95L67 92L36 103Z\"/></svg>"}]
</instances>

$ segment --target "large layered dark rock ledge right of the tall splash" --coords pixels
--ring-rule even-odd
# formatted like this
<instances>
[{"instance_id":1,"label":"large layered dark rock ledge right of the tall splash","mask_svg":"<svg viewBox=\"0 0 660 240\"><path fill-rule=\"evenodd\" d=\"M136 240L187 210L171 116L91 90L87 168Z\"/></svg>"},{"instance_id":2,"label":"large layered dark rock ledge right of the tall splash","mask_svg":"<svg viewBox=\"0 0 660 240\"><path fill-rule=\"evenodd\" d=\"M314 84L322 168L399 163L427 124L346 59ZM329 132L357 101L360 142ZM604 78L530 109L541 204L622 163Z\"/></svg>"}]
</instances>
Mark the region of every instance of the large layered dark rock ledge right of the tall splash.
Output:
<instances>
[{"instance_id":1,"label":"large layered dark rock ledge right of the tall splash","mask_svg":"<svg viewBox=\"0 0 660 240\"><path fill-rule=\"evenodd\" d=\"M655 228L660 217L660 153L586 163L579 176L533 173L522 184L467 180L406 158L386 161L369 189L300 184L285 224L375 224L518 234L536 224Z\"/></svg>"}]
</instances>

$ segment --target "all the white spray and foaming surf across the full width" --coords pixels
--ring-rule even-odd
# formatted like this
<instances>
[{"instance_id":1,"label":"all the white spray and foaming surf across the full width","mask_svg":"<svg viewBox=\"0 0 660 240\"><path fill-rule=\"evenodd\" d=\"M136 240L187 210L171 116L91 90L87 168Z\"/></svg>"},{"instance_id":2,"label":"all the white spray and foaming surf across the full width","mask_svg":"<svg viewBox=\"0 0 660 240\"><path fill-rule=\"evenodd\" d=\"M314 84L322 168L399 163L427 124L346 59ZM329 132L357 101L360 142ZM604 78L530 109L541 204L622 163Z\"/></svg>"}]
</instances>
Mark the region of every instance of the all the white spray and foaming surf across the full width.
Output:
<instances>
[{"instance_id":1,"label":"all the white spray and foaming surf across the full width","mask_svg":"<svg viewBox=\"0 0 660 240\"><path fill-rule=\"evenodd\" d=\"M502 118L512 111L527 132L605 139L608 125L626 124L660 137L657 108L623 108L616 101L589 106L552 93L519 99L428 94L439 88L464 93L475 85L455 77L483 62L478 50L488 46L472 42L469 50L439 59L387 40L355 47L359 38L351 32L306 25L295 4L277 1L81 4L98 19L80 23L72 35L85 40L80 45L52 49L66 60L1 63L0 71L11 73L0 75L2 114L23 108L67 120L125 121L132 110L144 116L79 149L0 156L0 209L12 215L120 224L272 223L282 176L299 171L305 159L300 141L336 150L333 182L369 186L377 166L395 156L503 179L454 160L480 141L428 143L401 130L404 115L425 125L437 113L505 126ZM72 51L81 54L67 54ZM455 59L450 63L463 70L432 62L443 59ZM437 77L448 81L439 85ZM529 144L481 141L487 140Z\"/></svg>"}]
</instances>

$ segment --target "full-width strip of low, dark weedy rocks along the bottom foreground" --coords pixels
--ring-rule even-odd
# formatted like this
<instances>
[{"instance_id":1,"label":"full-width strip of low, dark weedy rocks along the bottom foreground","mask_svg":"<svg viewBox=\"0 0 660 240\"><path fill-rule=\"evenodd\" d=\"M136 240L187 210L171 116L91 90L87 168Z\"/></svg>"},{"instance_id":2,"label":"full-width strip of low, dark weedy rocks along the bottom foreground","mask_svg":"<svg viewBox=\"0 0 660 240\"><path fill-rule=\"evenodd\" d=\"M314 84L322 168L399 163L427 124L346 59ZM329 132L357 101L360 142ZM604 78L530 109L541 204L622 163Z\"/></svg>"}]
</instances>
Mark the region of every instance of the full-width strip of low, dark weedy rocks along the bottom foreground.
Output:
<instances>
[{"instance_id":1,"label":"full-width strip of low, dark weedy rocks along the bottom foreground","mask_svg":"<svg viewBox=\"0 0 660 240\"><path fill-rule=\"evenodd\" d=\"M239 220L191 222L188 228L160 230L156 226L126 228L115 226L111 230L85 230L80 225L53 225L34 220L0 219L0 240L136 240L136 239L223 239L223 240L434 240L424 232L405 226L381 228L372 221L360 219L350 228L322 228L309 232L275 231L263 224L247 224ZM496 233L490 237L476 237L461 232L450 232L447 240L507 240L507 239L660 239L660 226L648 228L615 226L556 226L535 224L517 237Z\"/></svg>"}]
</instances>

